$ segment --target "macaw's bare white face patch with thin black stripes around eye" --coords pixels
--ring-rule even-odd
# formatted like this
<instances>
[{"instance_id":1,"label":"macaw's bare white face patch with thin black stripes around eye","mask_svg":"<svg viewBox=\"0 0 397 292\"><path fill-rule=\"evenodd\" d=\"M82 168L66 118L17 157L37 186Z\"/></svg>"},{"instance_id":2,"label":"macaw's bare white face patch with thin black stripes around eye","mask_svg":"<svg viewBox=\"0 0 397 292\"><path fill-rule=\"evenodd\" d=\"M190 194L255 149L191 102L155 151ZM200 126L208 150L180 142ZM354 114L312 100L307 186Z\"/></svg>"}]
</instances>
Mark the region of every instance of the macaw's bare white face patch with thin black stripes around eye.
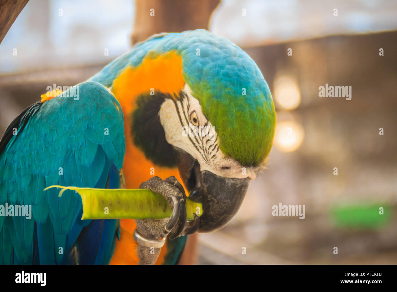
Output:
<instances>
[{"instance_id":1,"label":"macaw's bare white face patch with thin black stripes around eye","mask_svg":"<svg viewBox=\"0 0 397 292\"><path fill-rule=\"evenodd\" d=\"M181 99L166 99L159 116L166 140L183 149L200 164L200 170L208 170L225 178L256 177L256 168L244 167L235 159L227 157L219 148L216 129L204 116L200 102L192 96L187 84Z\"/></svg>"}]
</instances>

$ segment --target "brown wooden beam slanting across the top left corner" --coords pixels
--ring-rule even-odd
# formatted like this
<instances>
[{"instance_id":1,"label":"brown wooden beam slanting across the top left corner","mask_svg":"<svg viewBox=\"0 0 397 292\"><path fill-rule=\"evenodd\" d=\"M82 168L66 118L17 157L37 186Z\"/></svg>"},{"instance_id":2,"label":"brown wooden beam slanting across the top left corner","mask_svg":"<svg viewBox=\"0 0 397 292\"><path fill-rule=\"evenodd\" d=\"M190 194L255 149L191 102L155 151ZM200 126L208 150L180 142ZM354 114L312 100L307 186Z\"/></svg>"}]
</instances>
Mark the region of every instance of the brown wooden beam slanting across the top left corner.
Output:
<instances>
[{"instance_id":1,"label":"brown wooden beam slanting across the top left corner","mask_svg":"<svg viewBox=\"0 0 397 292\"><path fill-rule=\"evenodd\" d=\"M0 0L0 44L29 0Z\"/></svg>"}]
</instances>

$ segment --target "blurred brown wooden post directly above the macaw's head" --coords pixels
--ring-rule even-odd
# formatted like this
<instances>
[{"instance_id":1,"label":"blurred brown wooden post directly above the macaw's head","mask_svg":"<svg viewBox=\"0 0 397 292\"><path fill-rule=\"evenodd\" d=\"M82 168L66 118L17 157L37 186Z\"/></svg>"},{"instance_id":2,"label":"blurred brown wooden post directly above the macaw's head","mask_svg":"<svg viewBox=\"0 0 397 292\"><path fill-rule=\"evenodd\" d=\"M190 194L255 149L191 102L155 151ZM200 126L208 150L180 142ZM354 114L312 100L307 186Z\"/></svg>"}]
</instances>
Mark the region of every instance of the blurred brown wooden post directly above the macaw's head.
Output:
<instances>
[{"instance_id":1,"label":"blurred brown wooden post directly above the macaw's head","mask_svg":"<svg viewBox=\"0 0 397 292\"><path fill-rule=\"evenodd\" d=\"M154 33L208 29L211 14L220 0L135 0L134 32L131 43Z\"/></svg>"}]
</instances>

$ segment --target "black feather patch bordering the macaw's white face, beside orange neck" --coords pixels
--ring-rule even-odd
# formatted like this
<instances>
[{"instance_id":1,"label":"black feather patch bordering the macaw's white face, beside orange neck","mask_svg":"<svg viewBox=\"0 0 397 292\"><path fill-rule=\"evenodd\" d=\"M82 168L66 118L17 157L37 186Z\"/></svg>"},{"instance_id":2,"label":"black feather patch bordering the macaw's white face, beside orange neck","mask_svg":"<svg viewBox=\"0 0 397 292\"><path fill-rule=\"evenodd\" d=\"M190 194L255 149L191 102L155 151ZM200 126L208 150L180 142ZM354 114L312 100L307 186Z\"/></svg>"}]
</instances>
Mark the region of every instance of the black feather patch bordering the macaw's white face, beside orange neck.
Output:
<instances>
[{"instance_id":1,"label":"black feather patch bordering the macaw's white face, beside orange neck","mask_svg":"<svg viewBox=\"0 0 397 292\"><path fill-rule=\"evenodd\" d=\"M137 99L137 108L131 114L131 134L133 143L139 147L158 166L173 168L177 165L175 150L166 140L164 128L160 123L159 111L171 95L156 92L141 95Z\"/></svg>"}]
</instances>

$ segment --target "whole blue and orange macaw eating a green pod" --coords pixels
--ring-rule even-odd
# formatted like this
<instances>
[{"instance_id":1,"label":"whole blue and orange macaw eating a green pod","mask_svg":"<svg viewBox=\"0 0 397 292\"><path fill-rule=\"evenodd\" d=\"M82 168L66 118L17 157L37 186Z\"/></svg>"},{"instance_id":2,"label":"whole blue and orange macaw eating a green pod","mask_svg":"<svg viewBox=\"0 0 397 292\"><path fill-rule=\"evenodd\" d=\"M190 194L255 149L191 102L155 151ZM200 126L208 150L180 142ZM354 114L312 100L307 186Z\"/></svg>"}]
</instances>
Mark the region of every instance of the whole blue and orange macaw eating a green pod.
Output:
<instances>
[{"instance_id":1,"label":"whole blue and orange macaw eating a green pod","mask_svg":"<svg viewBox=\"0 0 397 292\"><path fill-rule=\"evenodd\" d=\"M156 263L176 263L191 233L185 193L203 206L193 232L227 224L263 168L275 124L258 66L224 37L199 29L136 44L86 82L42 95L5 131L0 263L138 263L134 230L156 224L154 238L175 238ZM121 168L127 189L150 188L176 204L170 219L81 220L77 193L44 191L119 188ZM31 219L17 216L21 206L31 206Z\"/></svg>"}]
</instances>

